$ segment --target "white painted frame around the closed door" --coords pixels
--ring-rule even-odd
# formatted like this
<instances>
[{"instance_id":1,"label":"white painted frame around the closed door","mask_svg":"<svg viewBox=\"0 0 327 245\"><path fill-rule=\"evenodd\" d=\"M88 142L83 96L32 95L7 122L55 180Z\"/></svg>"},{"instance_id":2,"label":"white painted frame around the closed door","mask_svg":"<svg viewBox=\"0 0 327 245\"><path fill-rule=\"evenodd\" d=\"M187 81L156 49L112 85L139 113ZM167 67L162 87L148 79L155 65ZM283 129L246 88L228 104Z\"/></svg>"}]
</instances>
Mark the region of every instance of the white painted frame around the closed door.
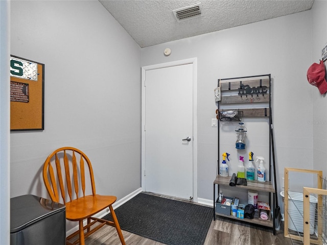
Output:
<instances>
[{"instance_id":1,"label":"white painted frame around the closed door","mask_svg":"<svg viewBox=\"0 0 327 245\"><path fill-rule=\"evenodd\" d=\"M176 65L193 64L193 201L198 202L198 135L197 135L197 58L172 61L167 63L142 67L142 152L141 152L141 180L142 190L145 191L145 74L147 70L165 68Z\"/></svg>"}]
</instances>

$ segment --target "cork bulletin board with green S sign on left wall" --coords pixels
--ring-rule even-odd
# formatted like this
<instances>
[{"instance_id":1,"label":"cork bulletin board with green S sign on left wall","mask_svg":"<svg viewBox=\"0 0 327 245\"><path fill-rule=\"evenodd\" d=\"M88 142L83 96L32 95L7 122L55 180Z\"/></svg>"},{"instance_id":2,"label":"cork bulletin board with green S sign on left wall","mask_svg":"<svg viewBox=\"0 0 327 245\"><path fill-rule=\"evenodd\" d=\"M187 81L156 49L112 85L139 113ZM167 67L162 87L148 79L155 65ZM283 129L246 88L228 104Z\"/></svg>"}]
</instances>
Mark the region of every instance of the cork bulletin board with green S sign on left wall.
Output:
<instances>
[{"instance_id":1,"label":"cork bulletin board with green S sign on left wall","mask_svg":"<svg viewBox=\"0 0 327 245\"><path fill-rule=\"evenodd\" d=\"M10 130L44 129L44 64L10 56Z\"/></svg>"}]
</instances>

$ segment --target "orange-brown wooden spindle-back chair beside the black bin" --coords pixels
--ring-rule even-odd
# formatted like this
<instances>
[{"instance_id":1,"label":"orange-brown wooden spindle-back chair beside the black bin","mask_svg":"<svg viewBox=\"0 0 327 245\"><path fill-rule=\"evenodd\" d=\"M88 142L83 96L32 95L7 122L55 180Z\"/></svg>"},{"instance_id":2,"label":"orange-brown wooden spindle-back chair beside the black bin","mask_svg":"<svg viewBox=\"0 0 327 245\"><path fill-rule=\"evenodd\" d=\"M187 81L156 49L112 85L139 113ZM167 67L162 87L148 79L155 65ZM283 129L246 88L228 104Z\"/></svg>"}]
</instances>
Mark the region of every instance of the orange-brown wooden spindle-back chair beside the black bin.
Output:
<instances>
[{"instance_id":1,"label":"orange-brown wooden spindle-back chair beside the black bin","mask_svg":"<svg viewBox=\"0 0 327 245\"><path fill-rule=\"evenodd\" d=\"M72 147L55 150L44 162L43 180L52 201L65 204L66 219L79 222L79 230L66 237L66 244L79 243L84 245L84 237L89 236L104 225L110 225L116 228L122 244L125 245L121 228L111 206L117 198L113 195L96 194L91 162L82 151ZM86 183L90 183L90 185ZM61 197L59 197L59 191ZM91 194L86 195L86 192ZM92 217L92 215L108 207L113 222ZM83 225L84 219L87 220L85 226ZM85 234L84 230L86 230ZM79 235L77 240L69 241L77 235Z\"/></svg>"}]
</instances>

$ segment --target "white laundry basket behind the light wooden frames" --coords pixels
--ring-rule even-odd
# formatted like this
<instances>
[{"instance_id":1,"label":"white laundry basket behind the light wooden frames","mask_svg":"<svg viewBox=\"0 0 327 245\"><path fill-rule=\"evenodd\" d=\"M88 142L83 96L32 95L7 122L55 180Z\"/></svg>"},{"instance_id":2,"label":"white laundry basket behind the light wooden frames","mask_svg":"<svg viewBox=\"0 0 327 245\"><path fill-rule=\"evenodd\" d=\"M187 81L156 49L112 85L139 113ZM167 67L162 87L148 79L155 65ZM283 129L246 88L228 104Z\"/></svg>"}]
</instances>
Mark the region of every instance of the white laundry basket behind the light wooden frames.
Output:
<instances>
[{"instance_id":1,"label":"white laundry basket behind the light wooden frames","mask_svg":"<svg viewBox=\"0 0 327 245\"><path fill-rule=\"evenodd\" d=\"M281 195L284 198L284 190ZM288 213L284 210L284 215L289 215L288 228L303 233L303 193L289 191L288 195ZM310 234L314 233L317 203L317 198L310 195Z\"/></svg>"}]
</instances>

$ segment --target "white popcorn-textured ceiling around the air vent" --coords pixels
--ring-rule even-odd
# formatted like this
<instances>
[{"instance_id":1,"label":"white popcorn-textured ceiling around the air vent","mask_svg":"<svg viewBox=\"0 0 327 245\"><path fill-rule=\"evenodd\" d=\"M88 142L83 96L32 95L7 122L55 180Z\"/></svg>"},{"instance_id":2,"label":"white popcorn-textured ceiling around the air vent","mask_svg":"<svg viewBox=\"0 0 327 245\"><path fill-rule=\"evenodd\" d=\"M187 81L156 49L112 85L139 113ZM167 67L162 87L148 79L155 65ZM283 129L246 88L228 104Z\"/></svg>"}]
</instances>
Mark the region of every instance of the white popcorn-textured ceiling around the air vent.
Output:
<instances>
[{"instance_id":1,"label":"white popcorn-textured ceiling around the air vent","mask_svg":"<svg viewBox=\"0 0 327 245\"><path fill-rule=\"evenodd\" d=\"M141 47L311 9L314 0L99 0ZM172 11L202 4L201 17L177 22Z\"/></svg>"}]
</instances>

